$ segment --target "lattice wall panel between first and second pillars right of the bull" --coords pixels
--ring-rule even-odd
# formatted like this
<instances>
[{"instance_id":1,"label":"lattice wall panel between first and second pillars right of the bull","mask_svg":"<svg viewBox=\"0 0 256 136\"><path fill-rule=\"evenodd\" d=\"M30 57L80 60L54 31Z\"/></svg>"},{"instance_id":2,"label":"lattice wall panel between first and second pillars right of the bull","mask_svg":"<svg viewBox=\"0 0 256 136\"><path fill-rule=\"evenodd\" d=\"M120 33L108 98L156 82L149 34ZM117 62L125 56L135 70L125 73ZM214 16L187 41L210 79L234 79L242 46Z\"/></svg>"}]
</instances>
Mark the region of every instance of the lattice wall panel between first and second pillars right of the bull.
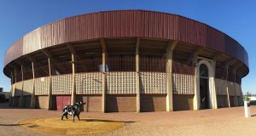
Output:
<instances>
[{"instance_id":1,"label":"lattice wall panel between first and second pillars right of the bull","mask_svg":"<svg viewBox=\"0 0 256 136\"><path fill-rule=\"evenodd\" d=\"M137 94L136 72L108 72L107 94Z\"/></svg>"}]
</instances>

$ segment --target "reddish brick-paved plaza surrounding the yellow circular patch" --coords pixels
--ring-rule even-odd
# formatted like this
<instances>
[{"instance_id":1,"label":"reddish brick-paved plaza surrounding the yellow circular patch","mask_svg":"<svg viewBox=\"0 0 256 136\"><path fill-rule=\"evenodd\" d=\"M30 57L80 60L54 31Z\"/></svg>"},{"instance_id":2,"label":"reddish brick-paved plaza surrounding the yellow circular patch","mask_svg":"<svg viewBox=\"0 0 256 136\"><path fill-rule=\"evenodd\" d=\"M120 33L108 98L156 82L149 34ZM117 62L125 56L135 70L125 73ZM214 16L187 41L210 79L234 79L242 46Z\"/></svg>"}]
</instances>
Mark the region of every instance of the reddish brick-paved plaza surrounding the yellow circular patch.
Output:
<instances>
[{"instance_id":1,"label":"reddish brick-paved plaza surrounding the yellow circular patch","mask_svg":"<svg viewBox=\"0 0 256 136\"><path fill-rule=\"evenodd\" d=\"M39 133L20 127L19 122L28 118L60 117L60 111L9 109L0 104L0 135L57 135ZM223 108L202 111L175 112L82 112L82 117L103 118L125 122L125 126L108 133L88 134L102 135L216 135L241 136L256 135L256 106L251 106L252 117L245 118L243 107Z\"/></svg>"}]
</instances>

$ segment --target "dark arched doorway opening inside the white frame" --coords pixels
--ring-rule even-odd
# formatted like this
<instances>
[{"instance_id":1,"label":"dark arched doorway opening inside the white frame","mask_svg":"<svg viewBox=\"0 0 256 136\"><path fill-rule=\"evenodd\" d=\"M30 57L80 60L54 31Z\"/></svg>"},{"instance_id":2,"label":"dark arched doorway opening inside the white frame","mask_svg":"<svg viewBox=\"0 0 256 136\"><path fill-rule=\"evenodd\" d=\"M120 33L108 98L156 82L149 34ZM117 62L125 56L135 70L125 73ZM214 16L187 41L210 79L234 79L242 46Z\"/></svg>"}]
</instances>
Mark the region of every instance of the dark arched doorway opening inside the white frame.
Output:
<instances>
[{"instance_id":1,"label":"dark arched doorway opening inside the white frame","mask_svg":"<svg viewBox=\"0 0 256 136\"><path fill-rule=\"evenodd\" d=\"M200 109L209 109L209 74L207 65L199 67Z\"/></svg>"}]
</instances>

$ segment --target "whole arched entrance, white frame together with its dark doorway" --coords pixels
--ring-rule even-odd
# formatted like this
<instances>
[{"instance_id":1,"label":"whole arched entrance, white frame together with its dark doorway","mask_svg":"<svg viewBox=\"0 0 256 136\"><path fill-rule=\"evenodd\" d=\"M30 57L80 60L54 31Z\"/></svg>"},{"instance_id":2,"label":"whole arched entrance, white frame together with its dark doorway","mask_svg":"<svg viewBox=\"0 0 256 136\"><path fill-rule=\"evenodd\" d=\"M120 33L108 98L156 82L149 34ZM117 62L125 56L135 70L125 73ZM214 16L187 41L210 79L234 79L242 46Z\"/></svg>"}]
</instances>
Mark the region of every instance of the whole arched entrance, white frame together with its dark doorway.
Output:
<instances>
[{"instance_id":1,"label":"whole arched entrance, white frame together with its dark doorway","mask_svg":"<svg viewBox=\"0 0 256 136\"><path fill-rule=\"evenodd\" d=\"M196 65L194 110L217 109L213 62L201 59Z\"/></svg>"}]
</instances>

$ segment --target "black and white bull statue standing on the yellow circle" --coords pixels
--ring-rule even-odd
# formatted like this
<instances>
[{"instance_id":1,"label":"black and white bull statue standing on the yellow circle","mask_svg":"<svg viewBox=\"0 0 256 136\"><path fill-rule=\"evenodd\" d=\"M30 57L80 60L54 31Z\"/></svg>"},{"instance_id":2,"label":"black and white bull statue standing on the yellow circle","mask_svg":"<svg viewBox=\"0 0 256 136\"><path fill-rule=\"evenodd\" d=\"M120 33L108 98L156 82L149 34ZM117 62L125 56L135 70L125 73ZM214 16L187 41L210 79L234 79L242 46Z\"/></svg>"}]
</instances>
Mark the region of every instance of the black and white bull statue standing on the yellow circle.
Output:
<instances>
[{"instance_id":1,"label":"black and white bull statue standing on the yellow circle","mask_svg":"<svg viewBox=\"0 0 256 136\"><path fill-rule=\"evenodd\" d=\"M83 105L85 105L86 103L82 103L82 102L76 102L74 103L74 105L66 105L63 110L62 110L62 116L61 116L61 120L63 120L63 116L70 115L73 117L73 122L74 122L74 118L75 116L78 116L79 121L80 121L80 112L81 112L81 107Z\"/></svg>"}]
</instances>

